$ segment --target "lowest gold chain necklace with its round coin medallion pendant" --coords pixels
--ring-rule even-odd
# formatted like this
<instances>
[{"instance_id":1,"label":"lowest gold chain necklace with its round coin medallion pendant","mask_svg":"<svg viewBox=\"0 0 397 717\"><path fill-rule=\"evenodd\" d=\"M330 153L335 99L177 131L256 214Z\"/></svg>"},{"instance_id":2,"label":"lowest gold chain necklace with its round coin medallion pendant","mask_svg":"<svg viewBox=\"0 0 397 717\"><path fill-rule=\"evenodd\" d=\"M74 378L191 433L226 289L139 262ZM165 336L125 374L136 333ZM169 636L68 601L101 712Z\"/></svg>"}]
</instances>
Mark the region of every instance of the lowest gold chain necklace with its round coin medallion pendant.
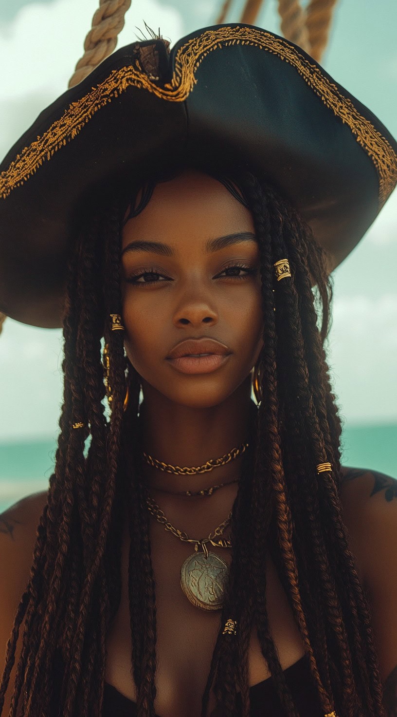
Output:
<instances>
[{"instance_id":1,"label":"lowest gold chain necklace with its round coin medallion pendant","mask_svg":"<svg viewBox=\"0 0 397 717\"><path fill-rule=\"evenodd\" d=\"M161 511L157 503L146 497L149 513L156 518L158 523L162 523L166 531L171 531L176 538L186 543L194 543L194 553L186 558L181 567L181 588L186 597L196 607L204 610L219 610L222 607L224 593L229 581L229 566L215 553L209 551L206 543L218 546L219 548L231 548L229 538L222 538L224 530L229 526L231 521L231 513L227 516L208 538L200 538L195 540L189 538L184 531L178 530ZM219 538L218 541L215 538ZM198 548L202 549L202 553L198 552Z\"/></svg>"}]
</instances>

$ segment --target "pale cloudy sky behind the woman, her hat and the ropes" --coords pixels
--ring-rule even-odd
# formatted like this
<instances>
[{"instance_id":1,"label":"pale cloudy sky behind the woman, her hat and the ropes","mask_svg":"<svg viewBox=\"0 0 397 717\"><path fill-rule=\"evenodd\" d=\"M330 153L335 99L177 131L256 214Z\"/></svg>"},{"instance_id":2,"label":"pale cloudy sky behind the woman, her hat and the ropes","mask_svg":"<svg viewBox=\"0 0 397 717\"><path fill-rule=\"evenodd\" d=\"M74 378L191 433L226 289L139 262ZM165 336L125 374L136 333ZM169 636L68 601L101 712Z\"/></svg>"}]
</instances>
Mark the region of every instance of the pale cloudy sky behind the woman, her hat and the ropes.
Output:
<instances>
[{"instance_id":1,"label":"pale cloudy sky behind the woman, her hat and the ropes","mask_svg":"<svg viewBox=\"0 0 397 717\"><path fill-rule=\"evenodd\" d=\"M213 24L223 0L133 0L118 47L144 22L175 44ZM98 0L0 0L0 157L64 90ZM226 22L238 22L234 0ZM277 1L257 25L281 34ZM397 3L339 0L325 70L397 136ZM326 349L346 425L397 423L397 190L334 277ZM0 336L0 442L57 435L62 331L7 319Z\"/></svg>"}]
</instances>

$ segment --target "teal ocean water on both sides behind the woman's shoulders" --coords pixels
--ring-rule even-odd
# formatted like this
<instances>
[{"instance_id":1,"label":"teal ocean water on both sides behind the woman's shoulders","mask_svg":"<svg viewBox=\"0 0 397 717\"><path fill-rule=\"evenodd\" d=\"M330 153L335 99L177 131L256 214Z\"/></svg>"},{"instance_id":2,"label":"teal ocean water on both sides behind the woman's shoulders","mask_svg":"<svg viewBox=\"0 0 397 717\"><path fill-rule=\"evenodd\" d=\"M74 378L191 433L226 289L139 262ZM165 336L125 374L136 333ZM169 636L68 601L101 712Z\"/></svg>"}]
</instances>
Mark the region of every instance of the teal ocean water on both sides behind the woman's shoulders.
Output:
<instances>
[{"instance_id":1,"label":"teal ocean water on both sides behind the woman's shoulders","mask_svg":"<svg viewBox=\"0 0 397 717\"><path fill-rule=\"evenodd\" d=\"M0 443L0 513L25 495L47 490L56 442ZM397 423L345 426L343 465L372 468L397 478Z\"/></svg>"}]
</instances>

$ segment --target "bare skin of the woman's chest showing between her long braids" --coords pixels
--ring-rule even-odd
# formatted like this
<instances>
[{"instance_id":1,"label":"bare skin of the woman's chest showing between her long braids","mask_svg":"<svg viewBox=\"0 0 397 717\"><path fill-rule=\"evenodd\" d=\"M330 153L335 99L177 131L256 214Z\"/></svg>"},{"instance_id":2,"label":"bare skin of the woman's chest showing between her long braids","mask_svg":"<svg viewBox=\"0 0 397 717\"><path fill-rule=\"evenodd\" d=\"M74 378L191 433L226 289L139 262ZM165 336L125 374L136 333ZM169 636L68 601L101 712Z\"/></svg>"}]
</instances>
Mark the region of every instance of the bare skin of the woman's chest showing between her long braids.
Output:
<instances>
[{"instance_id":1,"label":"bare skin of the woman's chest showing between her long braids","mask_svg":"<svg viewBox=\"0 0 397 717\"><path fill-rule=\"evenodd\" d=\"M193 552L193 546L178 541L158 523L151 526L150 543L157 610L156 713L162 717L182 717L187 714L199 717L201 695L209 673L221 612L194 607L181 589L181 565ZM107 635L105 680L127 698L136 701L136 689L131 676L128 549L129 538L125 532L121 565L122 597L118 614ZM230 563L230 550L211 548L211 551ZM270 558L264 569L267 572L269 623L284 670L302 657L304 648L287 596ZM249 685L266 680L269 674L254 628L249 647ZM211 696L210 711L213 707Z\"/></svg>"}]
</instances>

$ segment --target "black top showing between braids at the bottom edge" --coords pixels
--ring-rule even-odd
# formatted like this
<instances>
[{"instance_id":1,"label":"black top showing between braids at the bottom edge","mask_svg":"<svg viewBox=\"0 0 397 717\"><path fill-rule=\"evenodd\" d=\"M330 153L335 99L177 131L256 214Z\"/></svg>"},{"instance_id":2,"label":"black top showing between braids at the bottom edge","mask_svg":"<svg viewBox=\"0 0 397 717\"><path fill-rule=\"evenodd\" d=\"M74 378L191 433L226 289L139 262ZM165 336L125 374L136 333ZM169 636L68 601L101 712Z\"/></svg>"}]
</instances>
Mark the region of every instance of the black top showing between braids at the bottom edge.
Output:
<instances>
[{"instance_id":1,"label":"black top showing between braids at the bottom edge","mask_svg":"<svg viewBox=\"0 0 397 717\"><path fill-rule=\"evenodd\" d=\"M300 717L324 717L307 655L284 670L284 675ZM252 685L249 689L249 698L251 717L262 717L264 709L269 716L287 717L277 696L272 677ZM113 685L105 682L102 717L134 717L135 715L136 703L118 692Z\"/></svg>"}]
</instances>

